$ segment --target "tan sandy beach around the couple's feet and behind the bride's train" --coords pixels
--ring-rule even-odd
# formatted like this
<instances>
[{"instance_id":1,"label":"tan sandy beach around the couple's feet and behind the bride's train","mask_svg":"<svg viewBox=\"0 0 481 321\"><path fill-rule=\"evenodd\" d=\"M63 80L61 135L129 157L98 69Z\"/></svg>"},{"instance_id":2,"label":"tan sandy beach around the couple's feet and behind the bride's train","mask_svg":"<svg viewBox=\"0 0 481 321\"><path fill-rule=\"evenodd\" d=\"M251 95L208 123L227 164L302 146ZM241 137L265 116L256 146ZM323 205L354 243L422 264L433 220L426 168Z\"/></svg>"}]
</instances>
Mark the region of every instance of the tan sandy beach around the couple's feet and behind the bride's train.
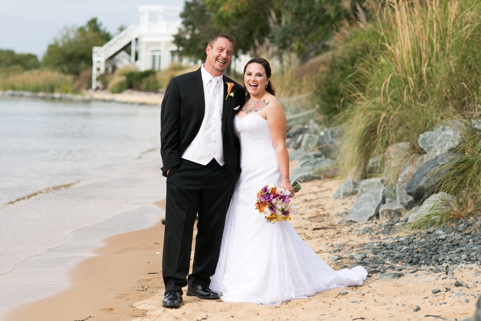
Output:
<instances>
[{"instance_id":1,"label":"tan sandy beach around the couple's feet and behind the bride's train","mask_svg":"<svg viewBox=\"0 0 481 321\"><path fill-rule=\"evenodd\" d=\"M382 222L350 226L340 222L342 213L354 203L354 196L332 199L340 183L304 183L293 199L301 207L291 221L297 233L334 269L354 263L349 256L331 260L329 251L336 244L344 244L343 251L356 253L356 248L373 236L357 236L352 231ZM180 309L164 309L162 240L160 222L142 231L107 238L106 245L95 250L97 256L71 269L70 288L22 305L10 311L6 320L464 320L474 313L480 293L480 267L460 264L453 279L427 268L403 271L392 278L379 279L379 274L373 274L361 287L343 288L347 290L344 295L333 289L273 306L184 296ZM456 280L462 286L456 287ZM433 293L435 289L440 291Z\"/></svg>"}]
</instances>

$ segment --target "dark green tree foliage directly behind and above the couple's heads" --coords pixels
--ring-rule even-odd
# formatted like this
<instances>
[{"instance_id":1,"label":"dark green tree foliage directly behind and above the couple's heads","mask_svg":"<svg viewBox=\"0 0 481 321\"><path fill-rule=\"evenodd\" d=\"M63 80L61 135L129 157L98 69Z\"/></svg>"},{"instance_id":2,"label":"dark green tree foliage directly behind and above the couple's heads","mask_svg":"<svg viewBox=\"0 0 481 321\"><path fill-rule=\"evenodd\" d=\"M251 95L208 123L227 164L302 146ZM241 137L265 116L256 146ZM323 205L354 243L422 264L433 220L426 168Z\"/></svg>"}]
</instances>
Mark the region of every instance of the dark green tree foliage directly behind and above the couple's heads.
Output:
<instances>
[{"instance_id":1,"label":"dark green tree foliage directly behind and above the couple's heads","mask_svg":"<svg viewBox=\"0 0 481 321\"><path fill-rule=\"evenodd\" d=\"M280 51L307 61L326 49L325 42L343 24L356 20L365 0L191 0L181 14L176 36L182 55L203 58L207 38L228 33L246 53L266 38ZM279 57L282 57L281 55Z\"/></svg>"}]
</instances>

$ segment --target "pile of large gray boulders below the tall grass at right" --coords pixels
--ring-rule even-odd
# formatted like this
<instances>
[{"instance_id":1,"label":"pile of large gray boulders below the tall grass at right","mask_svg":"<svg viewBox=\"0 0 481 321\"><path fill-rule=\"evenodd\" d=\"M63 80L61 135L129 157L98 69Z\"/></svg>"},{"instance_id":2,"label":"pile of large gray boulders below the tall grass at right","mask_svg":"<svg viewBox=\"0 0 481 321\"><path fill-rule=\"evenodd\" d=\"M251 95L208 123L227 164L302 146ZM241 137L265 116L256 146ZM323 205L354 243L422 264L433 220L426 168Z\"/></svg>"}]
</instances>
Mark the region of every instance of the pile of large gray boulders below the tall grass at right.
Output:
<instances>
[{"instance_id":1,"label":"pile of large gray boulders below the tall grass at right","mask_svg":"<svg viewBox=\"0 0 481 321\"><path fill-rule=\"evenodd\" d=\"M477 122L473 124L476 125ZM346 221L363 223L403 216L404 221L410 223L433 210L449 206L453 202L452 196L430 193L440 176L461 159L461 155L455 153L461 140L461 127L461 122L451 121L432 132L421 134L418 145L426 154L409 155L412 146L409 143L399 143L391 146L385 154L373 157L369 161L370 173L379 172L382 162L391 169L401 168L396 186L385 186L383 178L360 182L346 180L334 194L334 198L346 198L354 193L357 195L357 202L349 211Z\"/></svg>"}]
</instances>

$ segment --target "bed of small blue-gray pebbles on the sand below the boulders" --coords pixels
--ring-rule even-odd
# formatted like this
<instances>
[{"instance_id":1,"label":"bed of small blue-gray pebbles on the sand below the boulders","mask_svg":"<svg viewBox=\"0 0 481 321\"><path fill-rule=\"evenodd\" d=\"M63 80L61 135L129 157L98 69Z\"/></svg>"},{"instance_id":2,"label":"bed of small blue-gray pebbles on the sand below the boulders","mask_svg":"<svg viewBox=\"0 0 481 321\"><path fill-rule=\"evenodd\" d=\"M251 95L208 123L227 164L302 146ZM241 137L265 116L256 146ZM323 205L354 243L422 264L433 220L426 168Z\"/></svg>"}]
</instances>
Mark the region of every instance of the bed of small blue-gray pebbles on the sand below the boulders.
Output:
<instances>
[{"instance_id":1,"label":"bed of small blue-gray pebbles on the sand below the boulders","mask_svg":"<svg viewBox=\"0 0 481 321\"><path fill-rule=\"evenodd\" d=\"M453 279L456 267L481 262L481 229L476 224L475 219L462 219L453 226L438 230L429 228L407 236L394 235L405 228L405 223L399 218L384 223L352 224L356 234L368 234L371 239L356 249L356 262L353 260L346 267L362 265L370 275L389 273L388 270L413 270L413 273L428 270L444 273ZM440 240L439 236L445 236L445 239ZM343 245L332 246L338 248ZM337 261L334 258L331 260Z\"/></svg>"}]
</instances>

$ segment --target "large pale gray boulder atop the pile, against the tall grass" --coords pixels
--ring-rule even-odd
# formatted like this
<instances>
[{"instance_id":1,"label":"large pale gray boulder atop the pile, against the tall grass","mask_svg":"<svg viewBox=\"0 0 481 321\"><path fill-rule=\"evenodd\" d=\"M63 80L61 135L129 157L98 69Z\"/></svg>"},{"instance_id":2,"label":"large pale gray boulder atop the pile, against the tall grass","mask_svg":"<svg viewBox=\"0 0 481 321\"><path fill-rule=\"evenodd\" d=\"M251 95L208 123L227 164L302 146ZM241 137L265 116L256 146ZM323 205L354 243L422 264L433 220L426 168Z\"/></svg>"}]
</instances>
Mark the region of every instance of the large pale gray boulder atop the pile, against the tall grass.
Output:
<instances>
[{"instance_id":1,"label":"large pale gray boulder atop the pile, against the tall grass","mask_svg":"<svg viewBox=\"0 0 481 321\"><path fill-rule=\"evenodd\" d=\"M451 127L440 126L432 132L419 135L418 144L431 156L438 156L456 148L461 140L461 130L457 124Z\"/></svg>"}]
</instances>

